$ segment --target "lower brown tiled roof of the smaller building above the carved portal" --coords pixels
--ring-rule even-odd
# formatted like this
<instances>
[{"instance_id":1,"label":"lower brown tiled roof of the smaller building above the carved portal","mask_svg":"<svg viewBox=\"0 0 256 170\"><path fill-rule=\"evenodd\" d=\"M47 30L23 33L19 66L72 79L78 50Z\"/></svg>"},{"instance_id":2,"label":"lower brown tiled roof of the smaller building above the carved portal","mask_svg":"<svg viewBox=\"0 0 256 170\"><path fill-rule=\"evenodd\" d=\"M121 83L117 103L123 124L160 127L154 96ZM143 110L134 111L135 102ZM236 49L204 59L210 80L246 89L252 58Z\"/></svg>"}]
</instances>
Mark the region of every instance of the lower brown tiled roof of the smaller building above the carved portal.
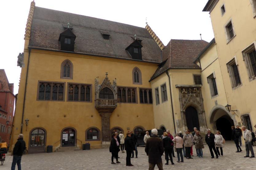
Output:
<instances>
[{"instance_id":1,"label":"lower brown tiled roof of the smaller building above the carved portal","mask_svg":"<svg viewBox=\"0 0 256 170\"><path fill-rule=\"evenodd\" d=\"M163 62L152 79L168 69L200 69L193 63L199 53L208 45L204 40L171 40L163 49Z\"/></svg>"}]
</instances>

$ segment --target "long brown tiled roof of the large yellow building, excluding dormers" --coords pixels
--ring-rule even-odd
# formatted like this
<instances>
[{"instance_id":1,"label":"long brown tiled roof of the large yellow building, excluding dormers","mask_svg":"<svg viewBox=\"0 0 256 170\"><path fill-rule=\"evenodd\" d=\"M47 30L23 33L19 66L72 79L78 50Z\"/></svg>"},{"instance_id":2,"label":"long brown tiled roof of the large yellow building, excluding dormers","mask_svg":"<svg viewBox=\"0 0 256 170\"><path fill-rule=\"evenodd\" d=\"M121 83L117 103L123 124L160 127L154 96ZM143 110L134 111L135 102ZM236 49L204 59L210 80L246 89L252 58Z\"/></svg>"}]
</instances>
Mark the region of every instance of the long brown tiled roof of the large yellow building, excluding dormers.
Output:
<instances>
[{"instance_id":1,"label":"long brown tiled roof of the large yellow building, excluding dormers","mask_svg":"<svg viewBox=\"0 0 256 170\"><path fill-rule=\"evenodd\" d=\"M136 34L142 40L142 60L160 63L161 49L146 28L37 6L33 13L29 47L60 51L58 39L65 30L63 25L68 22L77 36L75 53L132 59L125 48L134 41ZM104 40L101 32L108 32L109 40Z\"/></svg>"}]
</instances>

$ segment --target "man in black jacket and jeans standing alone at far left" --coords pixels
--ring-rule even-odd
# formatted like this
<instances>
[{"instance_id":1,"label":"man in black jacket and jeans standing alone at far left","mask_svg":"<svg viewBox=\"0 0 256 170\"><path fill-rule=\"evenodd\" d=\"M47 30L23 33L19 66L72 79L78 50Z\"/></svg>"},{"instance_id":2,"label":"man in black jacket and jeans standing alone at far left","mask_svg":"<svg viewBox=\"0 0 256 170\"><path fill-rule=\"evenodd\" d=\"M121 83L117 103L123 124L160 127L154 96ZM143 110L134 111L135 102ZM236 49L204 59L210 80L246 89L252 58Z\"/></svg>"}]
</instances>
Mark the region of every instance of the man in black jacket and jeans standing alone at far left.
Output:
<instances>
[{"instance_id":1,"label":"man in black jacket and jeans standing alone at far left","mask_svg":"<svg viewBox=\"0 0 256 170\"><path fill-rule=\"evenodd\" d=\"M18 165L18 170L21 170L21 157L26 149L26 143L23 140L23 134L19 134L18 141L15 143L13 148L13 161L11 170L15 170L16 164Z\"/></svg>"}]
</instances>

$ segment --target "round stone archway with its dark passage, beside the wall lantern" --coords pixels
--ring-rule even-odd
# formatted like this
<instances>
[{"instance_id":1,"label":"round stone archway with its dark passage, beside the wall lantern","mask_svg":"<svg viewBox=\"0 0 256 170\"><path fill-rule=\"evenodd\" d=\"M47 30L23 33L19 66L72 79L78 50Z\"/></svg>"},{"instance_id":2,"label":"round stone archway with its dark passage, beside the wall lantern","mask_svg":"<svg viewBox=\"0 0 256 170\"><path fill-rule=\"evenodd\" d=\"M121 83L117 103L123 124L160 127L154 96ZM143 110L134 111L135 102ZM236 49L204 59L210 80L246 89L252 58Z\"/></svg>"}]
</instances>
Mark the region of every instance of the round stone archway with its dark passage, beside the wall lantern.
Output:
<instances>
[{"instance_id":1,"label":"round stone archway with its dark passage, beside the wall lantern","mask_svg":"<svg viewBox=\"0 0 256 170\"><path fill-rule=\"evenodd\" d=\"M231 140L231 126L237 125L234 115L230 115L222 105L216 105L210 113L210 123L213 129L219 130L225 140Z\"/></svg>"}]
</instances>

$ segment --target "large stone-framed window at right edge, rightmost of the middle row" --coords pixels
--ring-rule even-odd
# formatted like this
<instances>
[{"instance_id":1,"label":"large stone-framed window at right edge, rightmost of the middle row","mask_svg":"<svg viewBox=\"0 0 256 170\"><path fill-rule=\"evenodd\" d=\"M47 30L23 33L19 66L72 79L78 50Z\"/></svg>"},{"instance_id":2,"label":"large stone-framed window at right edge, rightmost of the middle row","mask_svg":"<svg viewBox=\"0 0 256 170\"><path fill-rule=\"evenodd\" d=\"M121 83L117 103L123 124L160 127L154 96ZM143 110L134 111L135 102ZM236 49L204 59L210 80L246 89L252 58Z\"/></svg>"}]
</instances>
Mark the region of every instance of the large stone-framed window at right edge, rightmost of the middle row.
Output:
<instances>
[{"instance_id":1,"label":"large stone-framed window at right edge, rightmost of the middle row","mask_svg":"<svg viewBox=\"0 0 256 170\"><path fill-rule=\"evenodd\" d=\"M256 76L256 51L254 43L242 51L242 54L249 74L249 79L254 79Z\"/></svg>"}]
</instances>

